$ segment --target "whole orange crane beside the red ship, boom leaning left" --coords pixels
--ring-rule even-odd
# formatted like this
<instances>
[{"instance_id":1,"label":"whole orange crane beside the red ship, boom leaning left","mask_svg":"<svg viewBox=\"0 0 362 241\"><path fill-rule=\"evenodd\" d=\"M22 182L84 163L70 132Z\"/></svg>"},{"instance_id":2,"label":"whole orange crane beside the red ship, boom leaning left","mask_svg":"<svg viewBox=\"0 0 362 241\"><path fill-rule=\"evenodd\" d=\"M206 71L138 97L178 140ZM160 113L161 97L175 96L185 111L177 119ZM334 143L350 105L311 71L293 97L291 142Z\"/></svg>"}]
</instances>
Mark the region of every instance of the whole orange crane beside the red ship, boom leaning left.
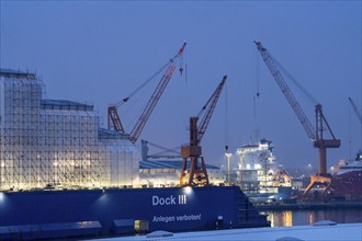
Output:
<instances>
[{"instance_id":1,"label":"whole orange crane beside the red ship, boom leaning left","mask_svg":"<svg viewBox=\"0 0 362 241\"><path fill-rule=\"evenodd\" d=\"M327 173L327 148L339 148L340 140L336 139L326 117L323 114L321 105L316 105L316 129L314 129L313 125L304 114L301 105L296 101L295 96L293 95L291 89L286 84L281 71L279 70L275 61L268 53L267 48L264 48L260 42L254 42L257 45L260 55L265 62L269 71L273 76L274 80L276 81L278 85L280 87L281 91L283 92L285 99L290 103L291 107L293 108L295 115L299 119L302 126L304 127L306 134L308 135L309 139L313 141L313 146L318 148L319 150L319 169L317 175L310 176L310 184L305 190L306 194L309 192L315 185L323 184L329 185L331 180L330 175ZM325 139L324 138L324 124L326 124L332 139Z\"/></svg>"}]
</instances>

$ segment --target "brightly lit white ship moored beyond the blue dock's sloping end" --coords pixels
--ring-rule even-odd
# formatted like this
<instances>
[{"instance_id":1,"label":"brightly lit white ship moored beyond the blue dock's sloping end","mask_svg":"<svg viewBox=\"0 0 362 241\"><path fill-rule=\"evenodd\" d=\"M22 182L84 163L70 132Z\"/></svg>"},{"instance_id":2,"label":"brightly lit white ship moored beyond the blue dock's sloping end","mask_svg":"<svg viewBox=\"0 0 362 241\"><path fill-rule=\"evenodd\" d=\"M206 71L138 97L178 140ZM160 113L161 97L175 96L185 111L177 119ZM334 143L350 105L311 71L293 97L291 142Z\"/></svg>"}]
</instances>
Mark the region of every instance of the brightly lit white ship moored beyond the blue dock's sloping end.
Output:
<instances>
[{"instance_id":1,"label":"brightly lit white ship moored beyond the blue dock's sloping end","mask_svg":"<svg viewBox=\"0 0 362 241\"><path fill-rule=\"evenodd\" d=\"M236 184L254 203L287 199L292 194L291 176L272 149L272 141L261 139L236 151L239 158Z\"/></svg>"}]
</instances>

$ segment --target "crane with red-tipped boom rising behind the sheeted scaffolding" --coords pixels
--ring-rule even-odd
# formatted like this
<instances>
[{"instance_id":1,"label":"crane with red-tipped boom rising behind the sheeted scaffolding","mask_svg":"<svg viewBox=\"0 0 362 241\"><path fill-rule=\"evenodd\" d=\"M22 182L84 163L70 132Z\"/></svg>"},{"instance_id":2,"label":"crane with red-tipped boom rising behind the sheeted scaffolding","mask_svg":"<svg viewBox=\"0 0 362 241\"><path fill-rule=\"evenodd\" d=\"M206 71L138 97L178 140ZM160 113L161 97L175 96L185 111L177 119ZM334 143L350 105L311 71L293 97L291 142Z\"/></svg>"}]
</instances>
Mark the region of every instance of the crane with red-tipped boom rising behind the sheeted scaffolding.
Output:
<instances>
[{"instance_id":1,"label":"crane with red-tipped boom rising behind the sheeted scaffolding","mask_svg":"<svg viewBox=\"0 0 362 241\"><path fill-rule=\"evenodd\" d=\"M142 112L136 125L132 129L129 134L129 140L135 144L138 139L143 128L145 127L150 114L152 113L157 102L159 101L161 94L163 93L167 84L169 83L170 79L172 78L172 74L176 69L176 60L182 57L184 47L186 46L186 43L184 42L181 48L179 49L178 54L171 58L158 72L166 69L162 78L160 79L158 85L156 87L151 97L149 99L148 103L146 104L144 111ZM180 71L182 73L182 67L180 68ZM117 113L117 107L122 105L123 103L127 102L129 97L123 99L120 103L115 105L110 105L108 107L108 127L109 129L114 129L118 133L125 133L120 115Z\"/></svg>"}]
</instances>

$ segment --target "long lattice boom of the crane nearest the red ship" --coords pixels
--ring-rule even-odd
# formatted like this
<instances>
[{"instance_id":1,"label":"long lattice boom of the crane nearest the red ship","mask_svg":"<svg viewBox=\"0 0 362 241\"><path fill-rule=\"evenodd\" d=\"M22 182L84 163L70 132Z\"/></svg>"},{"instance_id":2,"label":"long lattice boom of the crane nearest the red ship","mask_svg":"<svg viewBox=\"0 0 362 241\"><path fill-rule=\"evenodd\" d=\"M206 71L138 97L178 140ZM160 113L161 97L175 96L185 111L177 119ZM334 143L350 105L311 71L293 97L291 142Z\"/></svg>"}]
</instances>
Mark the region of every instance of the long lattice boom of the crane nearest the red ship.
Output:
<instances>
[{"instance_id":1,"label":"long lattice boom of the crane nearest the red ship","mask_svg":"<svg viewBox=\"0 0 362 241\"><path fill-rule=\"evenodd\" d=\"M296 101L295 96L293 95L291 89L286 84L282 73L278 69L275 62L273 61L272 57L268 53L267 48L264 48L260 42L254 42L257 45L258 50L260 51L260 55L262 59L264 60L269 71L273 76L274 80L276 81L278 85L280 87L281 91L283 92L284 96L286 97L289 104L293 108L295 115L302 123L302 126L306 134L308 135L309 139L315 141L316 140L316 135L315 135L315 129L308 118L306 117L305 113L303 112L301 105Z\"/></svg>"}]
</instances>

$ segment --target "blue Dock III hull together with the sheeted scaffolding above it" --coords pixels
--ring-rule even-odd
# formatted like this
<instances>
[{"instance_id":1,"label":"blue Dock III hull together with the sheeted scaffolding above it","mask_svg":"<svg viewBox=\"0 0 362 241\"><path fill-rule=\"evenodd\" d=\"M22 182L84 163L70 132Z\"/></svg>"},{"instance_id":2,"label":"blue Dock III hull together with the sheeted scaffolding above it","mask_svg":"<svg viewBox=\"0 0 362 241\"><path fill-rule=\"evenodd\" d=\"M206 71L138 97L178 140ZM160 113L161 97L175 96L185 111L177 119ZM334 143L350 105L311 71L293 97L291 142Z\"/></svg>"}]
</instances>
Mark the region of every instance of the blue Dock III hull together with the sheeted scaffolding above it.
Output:
<instances>
[{"instance_id":1,"label":"blue Dock III hull together with the sheeted scaffolding above it","mask_svg":"<svg viewBox=\"0 0 362 241\"><path fill-rule=\"evenodd\" d=\"M0 69L0 240L269 226L238 186L140 182L129 135L44 96L41 77Z\"/></svg>"}]
</instances>

